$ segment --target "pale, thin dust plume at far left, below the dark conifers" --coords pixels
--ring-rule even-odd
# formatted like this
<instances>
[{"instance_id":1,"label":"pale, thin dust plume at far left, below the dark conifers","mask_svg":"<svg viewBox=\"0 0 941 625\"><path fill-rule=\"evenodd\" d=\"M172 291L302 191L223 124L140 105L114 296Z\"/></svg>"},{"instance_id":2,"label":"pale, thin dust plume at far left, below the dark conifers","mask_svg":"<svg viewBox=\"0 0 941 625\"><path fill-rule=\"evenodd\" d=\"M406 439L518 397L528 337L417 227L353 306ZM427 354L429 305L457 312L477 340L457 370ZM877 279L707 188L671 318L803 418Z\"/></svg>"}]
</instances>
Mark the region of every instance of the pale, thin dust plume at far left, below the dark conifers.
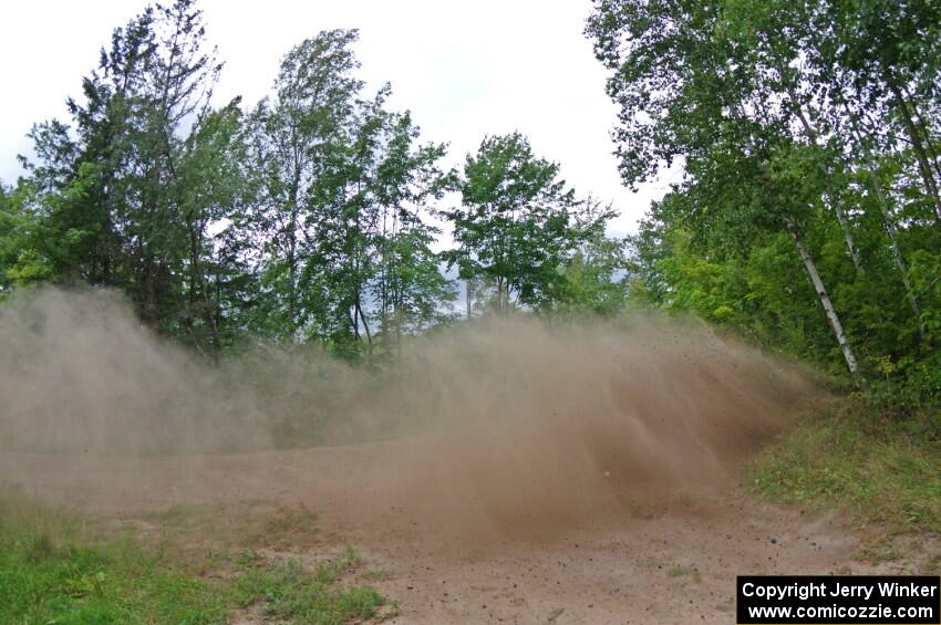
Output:
<instances>
[{"instance_id":1,"label":"pale, thin dust plume at far left, below the dark conifers","mask_svg":"<svg viewBox=\"0 0 941 625\"><path fill-rule=\"evenodd\" d=\"M269 438L259 406L105 291L44 289L3 304L0 397L7 450L153 454Z\"/></svg>"}]
</instances>

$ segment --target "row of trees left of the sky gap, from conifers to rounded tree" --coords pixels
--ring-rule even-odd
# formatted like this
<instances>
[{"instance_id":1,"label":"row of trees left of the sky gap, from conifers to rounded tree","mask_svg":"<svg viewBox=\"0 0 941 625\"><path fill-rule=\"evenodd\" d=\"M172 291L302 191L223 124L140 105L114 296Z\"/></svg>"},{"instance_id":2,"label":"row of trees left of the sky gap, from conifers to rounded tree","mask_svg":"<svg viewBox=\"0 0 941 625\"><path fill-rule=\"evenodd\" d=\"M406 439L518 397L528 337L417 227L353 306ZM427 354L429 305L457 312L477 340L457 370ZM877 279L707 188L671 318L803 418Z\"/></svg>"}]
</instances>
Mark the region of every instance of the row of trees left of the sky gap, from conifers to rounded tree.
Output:
<instances>
[{"instance_id":1,"label":"row of trees left of the sky gap, from conifers to rounded tree","mask_svg":"<svg viewBox=\"0 0 941 625\"><path fill-rule=\"evenodd\" d=\"M37 124L25 175L0 185L1 292L117 289L207 355L247 337L394 353L458 315L618 310L614 211L520 134L445 170L389 85L365 93L356 38L321 32L283 56L270 97L217 107L223 63L194 0L116 29L68 122ZM442 225L453 246L435 253Z\"/></svg>"}]
</instances>

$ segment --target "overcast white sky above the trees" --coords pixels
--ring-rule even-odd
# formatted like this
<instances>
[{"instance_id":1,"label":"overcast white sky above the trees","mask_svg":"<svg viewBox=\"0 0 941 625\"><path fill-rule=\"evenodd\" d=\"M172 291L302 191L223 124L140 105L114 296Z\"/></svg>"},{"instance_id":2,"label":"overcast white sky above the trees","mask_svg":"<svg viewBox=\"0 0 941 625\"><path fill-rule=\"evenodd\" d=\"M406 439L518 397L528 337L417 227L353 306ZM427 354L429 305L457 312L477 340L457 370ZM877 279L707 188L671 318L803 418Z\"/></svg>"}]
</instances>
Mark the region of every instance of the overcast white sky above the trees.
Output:
<instances>
[{"instance_id":1,"label":"overcast white sky above the trees","mask_svg":"<svg viewBox=\"0 0 941 625\"><path fill-rule=\"evenodd\" d=\"M4 2L0 18L0 179L20 174L18 153L38 121L65 117L66 96L97 62L112 30L144 0ZM616 108L604 71L582 35L589 0L203 0L210 42L226 61L218 103L269 93L292 45L333 28L360 29L356 54L369 88L392 83L391 104L410 108L423 135L463 162L486 134L519 129L562 166L579 194L620 211L617 233L635 230L665 183L621 186L609 131Z\"/></svg>"}]
</instances>

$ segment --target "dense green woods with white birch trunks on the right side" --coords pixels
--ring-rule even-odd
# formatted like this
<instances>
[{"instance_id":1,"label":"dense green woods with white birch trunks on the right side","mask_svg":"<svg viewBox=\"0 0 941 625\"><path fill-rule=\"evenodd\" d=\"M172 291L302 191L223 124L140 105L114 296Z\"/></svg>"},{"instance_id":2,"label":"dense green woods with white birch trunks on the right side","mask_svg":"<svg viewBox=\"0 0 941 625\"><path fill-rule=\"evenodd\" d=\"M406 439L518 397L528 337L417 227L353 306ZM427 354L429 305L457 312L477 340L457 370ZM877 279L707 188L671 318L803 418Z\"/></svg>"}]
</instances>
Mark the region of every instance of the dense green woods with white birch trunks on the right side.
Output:
<instances>
[{"instance_id":1,"label":"dense green woods with white birch trunks on the right side","mask_svg":"<svg viewBox=\"0 0 941 625\"><path fill-rule=\"evenodd\" d=\"M941 2L596 0L632 296L941 398Z\"/></svg>"}]
</instances>

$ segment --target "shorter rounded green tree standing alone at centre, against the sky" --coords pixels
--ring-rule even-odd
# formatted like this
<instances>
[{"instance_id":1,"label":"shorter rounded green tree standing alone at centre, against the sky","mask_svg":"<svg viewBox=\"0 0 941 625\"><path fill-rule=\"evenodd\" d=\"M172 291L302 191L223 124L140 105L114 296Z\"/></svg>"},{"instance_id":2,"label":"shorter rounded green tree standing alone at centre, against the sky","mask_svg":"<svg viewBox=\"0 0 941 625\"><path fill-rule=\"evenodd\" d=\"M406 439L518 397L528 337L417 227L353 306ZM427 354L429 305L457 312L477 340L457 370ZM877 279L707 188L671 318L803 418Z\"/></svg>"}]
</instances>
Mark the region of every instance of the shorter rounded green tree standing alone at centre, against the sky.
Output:
<instances>
[{"instance_id":1,"label":"shorter rounded green tree standing alone at centre, against the sky","mask_svg":"<svg viewBox=\"0 0 941 625\"><path fill-rule=\"evenodd\" d=\"M559 166L532 154L519 133L487 137L457 183L463 206L445 211L457 248L445 254L465 280L492 284L494 309L617 305L617 243L604 239L613 211L577 200Z\"/></svg>"}]
</instances>

